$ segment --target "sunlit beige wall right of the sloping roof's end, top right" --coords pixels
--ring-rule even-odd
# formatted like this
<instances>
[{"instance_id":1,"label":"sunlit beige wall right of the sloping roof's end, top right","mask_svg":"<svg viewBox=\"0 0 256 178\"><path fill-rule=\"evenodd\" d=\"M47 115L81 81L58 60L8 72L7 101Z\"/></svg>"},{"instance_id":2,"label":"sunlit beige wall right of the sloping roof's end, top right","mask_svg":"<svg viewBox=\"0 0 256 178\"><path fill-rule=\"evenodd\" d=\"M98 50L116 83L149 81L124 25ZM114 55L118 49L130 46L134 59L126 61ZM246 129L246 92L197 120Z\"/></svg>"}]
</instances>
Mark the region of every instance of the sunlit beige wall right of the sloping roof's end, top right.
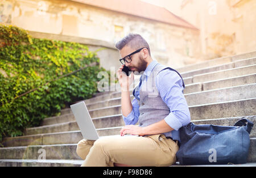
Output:
<instances>
[{"instance_id":1,"label":"sunlit beige wall right of the sloping roof's end, top right","mask_svg":"<svg viewBox=\"0 0 256 178\"><path fill-rule=\"evenodd\" d=\"M200 29L204 58L256 50L255 0L183 0L181 18Z\"/></svg>"}]
</instances>

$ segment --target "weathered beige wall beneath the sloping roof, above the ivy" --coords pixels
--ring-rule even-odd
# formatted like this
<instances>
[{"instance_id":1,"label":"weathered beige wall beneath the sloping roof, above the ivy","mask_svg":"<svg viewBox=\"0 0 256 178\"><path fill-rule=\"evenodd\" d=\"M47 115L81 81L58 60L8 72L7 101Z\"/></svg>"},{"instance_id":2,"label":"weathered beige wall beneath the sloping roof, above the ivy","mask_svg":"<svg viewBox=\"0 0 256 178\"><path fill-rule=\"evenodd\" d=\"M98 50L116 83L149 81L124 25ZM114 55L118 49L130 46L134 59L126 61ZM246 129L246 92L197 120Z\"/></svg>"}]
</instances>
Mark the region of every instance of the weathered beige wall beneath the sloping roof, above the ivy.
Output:
<instances>
[{"instance_id":1,"label":"weathered beige wall beneath the sloping roof, above the ivy","mask_svg":"<svg viewBox=\"0 0 256 178\"><path fill-rule=\"evenodd\" d=\"M165 65L182 67L197 62L201 56L200 31L193 29L67 0L2 0L0 8L0 22L31 32L108 43L108 50L98 53L106 69L119 66L119 54L114 44L129 32L140 33L150 44L152 57ZM92 49L98 47L100 45L92 45Z\"/></svg>"}]
</instances>

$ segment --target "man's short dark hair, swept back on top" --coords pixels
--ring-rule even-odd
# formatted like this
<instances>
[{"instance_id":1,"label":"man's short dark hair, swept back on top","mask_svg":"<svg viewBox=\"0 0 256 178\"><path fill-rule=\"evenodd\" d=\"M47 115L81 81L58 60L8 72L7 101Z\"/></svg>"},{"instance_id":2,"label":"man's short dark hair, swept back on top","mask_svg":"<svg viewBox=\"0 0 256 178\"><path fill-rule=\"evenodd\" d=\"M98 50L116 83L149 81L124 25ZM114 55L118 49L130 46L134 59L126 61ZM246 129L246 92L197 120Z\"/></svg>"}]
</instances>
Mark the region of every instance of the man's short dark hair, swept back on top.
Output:
<instances>
[{"instance_id":1,"label":"man's short dark hair, swept back on top","mask_svg":"<svg viewBox=\"0 0 256 178\"><path fill-rule=\"evenodd\" d=\"M122 40L118 41L118 43L115 45L115 48L117 48L118 50L121 50L126 45L130 46L134 50L137 50L140 48L147 48L148 54L151 56L150 46L148 45L147 41L143 39L143 37L139 34L129 33L129 35L123 37Z\"/></svg>"}]
</instances>

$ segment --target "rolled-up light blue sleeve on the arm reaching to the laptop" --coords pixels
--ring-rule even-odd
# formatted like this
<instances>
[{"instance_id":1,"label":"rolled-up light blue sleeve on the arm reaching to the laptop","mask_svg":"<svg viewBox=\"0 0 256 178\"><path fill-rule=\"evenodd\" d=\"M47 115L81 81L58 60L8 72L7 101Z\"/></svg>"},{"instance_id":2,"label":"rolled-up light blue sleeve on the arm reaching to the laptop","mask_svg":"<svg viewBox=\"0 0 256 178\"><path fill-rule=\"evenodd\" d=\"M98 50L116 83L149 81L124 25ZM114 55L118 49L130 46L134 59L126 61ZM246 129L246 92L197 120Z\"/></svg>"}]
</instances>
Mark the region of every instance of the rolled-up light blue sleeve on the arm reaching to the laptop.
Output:
<instances>
[{"instance_id":1,"label":"rolled-up light blue sleeve on the arm reaching to the laptop","mask_svg":"<svg viewBox=\"0 0 256 178\"><path fill-rule=\"evenodd\" d=\"M188 125L191 121L187 101L183 95L183 82L180 76L170 69L160 71L156 77L156 87L160 97L170 108L164 121L174 130Z\"/></svg>"}]
</instances>

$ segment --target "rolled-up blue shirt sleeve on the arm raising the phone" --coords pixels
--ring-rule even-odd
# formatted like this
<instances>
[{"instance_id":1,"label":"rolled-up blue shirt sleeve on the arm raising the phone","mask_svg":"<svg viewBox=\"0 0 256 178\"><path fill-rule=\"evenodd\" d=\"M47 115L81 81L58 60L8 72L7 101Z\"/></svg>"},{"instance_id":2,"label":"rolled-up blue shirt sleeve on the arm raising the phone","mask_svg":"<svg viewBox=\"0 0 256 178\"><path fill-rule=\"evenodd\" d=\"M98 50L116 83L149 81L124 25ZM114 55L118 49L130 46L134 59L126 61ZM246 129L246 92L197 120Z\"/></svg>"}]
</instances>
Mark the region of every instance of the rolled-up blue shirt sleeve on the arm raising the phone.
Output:
<instances>
[{"instance_id":1,"label":"rolled-up blue shirt sleeve on the arm raising the phone","mask_svg":"<svg viewBox=\"0 0 256 178\"><path fill-rule=\"evenodd\" d=\"M137 99L134 98L131 104L133 105L133 110L131 110L130 114L127 117L122 114L125 125L135 125L139 120L139 104Z\"/></svg>"}]
</instances>

